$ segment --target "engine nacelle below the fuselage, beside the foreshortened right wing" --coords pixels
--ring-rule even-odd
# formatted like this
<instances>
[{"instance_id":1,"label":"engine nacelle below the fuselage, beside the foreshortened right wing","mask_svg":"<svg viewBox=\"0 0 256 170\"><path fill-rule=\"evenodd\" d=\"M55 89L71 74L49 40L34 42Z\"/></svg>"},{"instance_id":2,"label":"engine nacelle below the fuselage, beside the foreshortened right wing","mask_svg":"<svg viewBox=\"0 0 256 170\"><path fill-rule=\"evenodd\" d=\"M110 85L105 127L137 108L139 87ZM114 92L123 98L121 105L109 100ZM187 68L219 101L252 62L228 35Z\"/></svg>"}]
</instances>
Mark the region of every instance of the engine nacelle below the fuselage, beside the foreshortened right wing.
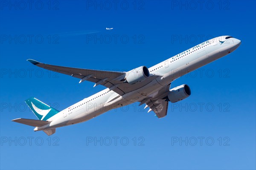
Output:
<instances>
[{"instance_id":1,"label":"engine nacelle below the fuselage, beside the foreshortened right wing","mask_svg":"<svg viewBox=\"0 0 256 170\"><path fill-rule=\"evenodd\" d=\"M190 96L191 90L188 85L180 85L172 88L168 94L170 102L175 103Z\"/></svg>"}]
</instances>

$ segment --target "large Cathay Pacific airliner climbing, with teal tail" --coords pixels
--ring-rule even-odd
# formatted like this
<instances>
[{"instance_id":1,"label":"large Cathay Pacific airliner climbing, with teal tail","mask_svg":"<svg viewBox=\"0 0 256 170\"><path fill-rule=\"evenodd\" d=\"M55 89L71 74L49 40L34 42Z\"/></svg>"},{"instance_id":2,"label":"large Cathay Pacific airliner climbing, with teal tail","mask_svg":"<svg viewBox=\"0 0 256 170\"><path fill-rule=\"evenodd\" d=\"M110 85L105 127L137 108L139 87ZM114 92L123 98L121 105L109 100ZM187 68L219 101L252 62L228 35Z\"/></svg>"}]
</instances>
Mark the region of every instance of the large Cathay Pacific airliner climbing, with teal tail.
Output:
<instances>
[{"instance_id":1,"label":"large Cathay Pacific airliner climbing, with teal tail","mask_svg":"<svg viewBox=\"0 0 256 170\"><path fill-rule=\"evenodd\" d=\"M43 130L47 135L55 133L57 127L73 125L93 119L113 108L119 108L134 102L145 104L155 116L167 115L168 103L178 102L191 95L188 85L179 85L170 90L171 83L191 71L235 51L241 44L231 36L220 36L202 42L150 68L140 66L131 71L102 71L83 68L62 67L44 64L28 59L33 65L50 71L67 74L80 79L80 82L94 82L103 85L105 90L77 102L63 111L58 111L44 102L31 97L25 102L38 120L14 119L12 121Z\"/></svg>"}]
</instances>

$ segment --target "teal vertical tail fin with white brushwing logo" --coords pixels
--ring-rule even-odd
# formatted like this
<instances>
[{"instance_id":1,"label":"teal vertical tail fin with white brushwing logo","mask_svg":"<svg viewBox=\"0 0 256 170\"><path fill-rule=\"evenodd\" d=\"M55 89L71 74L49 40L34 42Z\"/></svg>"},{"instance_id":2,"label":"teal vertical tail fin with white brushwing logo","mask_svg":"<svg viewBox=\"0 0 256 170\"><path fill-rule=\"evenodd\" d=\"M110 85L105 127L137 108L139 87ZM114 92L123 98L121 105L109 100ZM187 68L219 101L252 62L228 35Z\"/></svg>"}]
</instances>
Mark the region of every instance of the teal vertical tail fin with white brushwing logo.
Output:
<instances>
[{"instance_id":1,"label":"teal vertical tail fin with white brushwing logo","mask_svg":"<svg viewBox=\"0 0 256 170\"><path fill-rule=\"evenodd\" d=\"M47 120L60 112L55 108L48 106L44 102L39 101L35 97L26 99L25 102L29 106L29 108L33 111L35 116L38 117L39 120Z\"/></svg>"}]
</instances>

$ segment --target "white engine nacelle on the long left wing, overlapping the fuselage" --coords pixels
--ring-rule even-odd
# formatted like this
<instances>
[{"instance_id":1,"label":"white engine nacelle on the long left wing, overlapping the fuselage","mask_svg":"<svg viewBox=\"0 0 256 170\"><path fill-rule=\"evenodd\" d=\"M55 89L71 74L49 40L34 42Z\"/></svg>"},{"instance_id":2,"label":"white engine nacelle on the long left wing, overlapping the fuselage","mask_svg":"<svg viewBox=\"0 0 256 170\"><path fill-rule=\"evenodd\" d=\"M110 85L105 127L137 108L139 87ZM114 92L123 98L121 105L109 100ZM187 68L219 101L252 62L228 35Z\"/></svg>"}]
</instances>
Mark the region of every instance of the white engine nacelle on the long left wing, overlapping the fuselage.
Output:
<instances>
[{"instance_id":1,"label":"white engine nacelle on the long left wing, overlapping the fuselage","mask_svg":"<svg viewBox=\"0 0 256 170\"><path fill-rule=\"evenodd\" d=\"M149 75L148 68L145 66L134 68L126 73L125 82L128 82L129 84L142 82L143 80L147 79Z\"/></svg>"}]
</instances>

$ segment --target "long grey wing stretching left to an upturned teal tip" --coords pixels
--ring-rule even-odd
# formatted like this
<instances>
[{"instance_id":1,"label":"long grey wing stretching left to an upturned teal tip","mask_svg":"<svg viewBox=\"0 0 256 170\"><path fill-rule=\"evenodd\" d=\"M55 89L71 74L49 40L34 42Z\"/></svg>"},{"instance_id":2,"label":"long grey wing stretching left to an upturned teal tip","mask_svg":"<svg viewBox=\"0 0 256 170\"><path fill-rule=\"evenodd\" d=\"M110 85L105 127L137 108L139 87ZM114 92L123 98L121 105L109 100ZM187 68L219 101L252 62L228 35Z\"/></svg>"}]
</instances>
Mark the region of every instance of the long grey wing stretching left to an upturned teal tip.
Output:
<instances>
[{"instance_id":1,"label":"long grey wing stretching left to an upturned teal tip","mask_svg":"<svg viewBox=\"0 0 256 170\"><path fill-rule=\"evenodd\" d=\"M137 90L151 82L154 78L156 78L156 76L151 76L145 79L143 82L131 85L129 83L123 83L123 79L125 78L125 72L63 67L44 64L33 59L28 59L28 61L38 67L79 78L80 82L83 82L85 80L94 82L94 87L96 85L104 85L105 87L115 91L119 95L123 95L130 91Z\"/></svg>"}]
</instances>

